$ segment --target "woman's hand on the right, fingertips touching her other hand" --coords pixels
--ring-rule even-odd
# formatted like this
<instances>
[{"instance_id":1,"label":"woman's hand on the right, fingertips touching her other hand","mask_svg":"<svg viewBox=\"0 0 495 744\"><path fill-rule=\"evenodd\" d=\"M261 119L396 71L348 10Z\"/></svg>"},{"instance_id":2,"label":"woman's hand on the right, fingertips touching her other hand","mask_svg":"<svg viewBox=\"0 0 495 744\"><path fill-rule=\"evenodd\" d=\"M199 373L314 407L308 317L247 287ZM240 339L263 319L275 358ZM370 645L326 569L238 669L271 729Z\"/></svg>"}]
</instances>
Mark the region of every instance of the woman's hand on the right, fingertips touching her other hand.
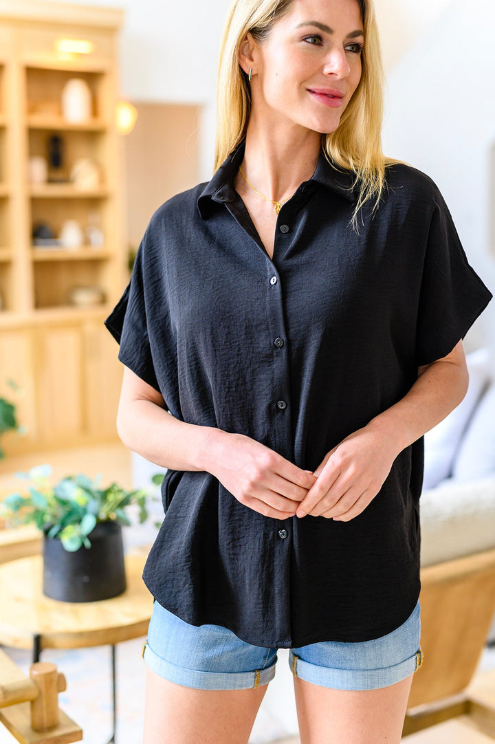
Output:
<instances>
[{"instance_id":1,"label":"woman's hand on the right, fingertips touching her other hand","mask_svg":"<svg viewBox=\"0 0 495 744\"><path fill-rule=\"evenodd\" d=\"M297 509L297 516L323 516L349 522L377 496L398 452L383 432L365 426L325 456L317 480Z\"/></svg>"}]
</instances>

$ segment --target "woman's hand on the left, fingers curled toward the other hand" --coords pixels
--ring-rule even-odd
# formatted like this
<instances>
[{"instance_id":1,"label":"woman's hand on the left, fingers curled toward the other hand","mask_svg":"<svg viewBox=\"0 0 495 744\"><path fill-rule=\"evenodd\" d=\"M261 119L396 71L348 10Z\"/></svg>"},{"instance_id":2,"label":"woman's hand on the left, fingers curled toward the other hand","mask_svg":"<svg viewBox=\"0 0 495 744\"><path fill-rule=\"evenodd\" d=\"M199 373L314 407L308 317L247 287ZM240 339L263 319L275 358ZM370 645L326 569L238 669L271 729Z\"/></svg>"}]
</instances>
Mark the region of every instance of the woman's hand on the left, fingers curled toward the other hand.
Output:
<instances>
[{"instance_id":1,"label":"woman's hand on the left, fingers curled toward the other hand","mask_svg":"<svg viewBox=\"0 0 495 744\"><path fill-rule=\"evenodd\" d=\"M212 429L205 445L204 469L241 504L272 519L294 516L316 481L312 472L243 434Z\"/></svg>"}]
</instances>

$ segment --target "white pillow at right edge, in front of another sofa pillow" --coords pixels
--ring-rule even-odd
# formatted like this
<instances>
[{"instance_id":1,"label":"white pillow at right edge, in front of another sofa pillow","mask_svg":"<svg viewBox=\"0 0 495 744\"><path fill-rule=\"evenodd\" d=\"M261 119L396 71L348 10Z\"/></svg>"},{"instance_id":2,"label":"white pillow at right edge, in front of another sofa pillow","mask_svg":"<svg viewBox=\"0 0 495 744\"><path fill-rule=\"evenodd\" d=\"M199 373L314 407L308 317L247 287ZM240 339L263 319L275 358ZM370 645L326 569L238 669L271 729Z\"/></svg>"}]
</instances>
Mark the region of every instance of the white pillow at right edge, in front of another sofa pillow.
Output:
<instances>
[{"instance_id":1,"label":"white pillow at right edge, in front of another sofa pillow","mask_svg":"<svg viewBox=\"0 0 495 744\"><path fill-rule=\"evenodd\" d=\"M474 481L495 476L495 384L476 406L456 454L452 477Z\"/></svg>"}]
</instances>

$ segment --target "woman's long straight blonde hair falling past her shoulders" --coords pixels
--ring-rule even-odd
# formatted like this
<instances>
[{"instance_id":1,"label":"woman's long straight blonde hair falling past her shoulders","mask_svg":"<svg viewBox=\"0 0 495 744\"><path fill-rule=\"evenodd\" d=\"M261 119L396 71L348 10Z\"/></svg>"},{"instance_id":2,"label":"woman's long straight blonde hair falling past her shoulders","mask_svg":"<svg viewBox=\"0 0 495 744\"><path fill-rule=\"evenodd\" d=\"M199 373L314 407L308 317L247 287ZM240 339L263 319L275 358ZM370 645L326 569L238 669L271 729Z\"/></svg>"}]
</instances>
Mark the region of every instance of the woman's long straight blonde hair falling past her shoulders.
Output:
<instances>
[{"instance_id":1,"label":"woman's long straight blonde hair falling past her shoulders","mask_svg":"<svg viewBox=\"0 0 495 744\"><path fill-rule=\"evenodd\" d=\"M376 208L385 186L383 155L383 65L373 0L358 0L364 22L363 71L360 83L342 115L335 132L322 135L322 151L338 167L351 170L360 195L360 208L373 199ZM223 31L217 92L217 138L214 170L246 136L251 111L251 94L246 73L239 65L239 49L250 32L258 43L288 12L293 0L234 0Z\"/></svg>"}]
</instances>

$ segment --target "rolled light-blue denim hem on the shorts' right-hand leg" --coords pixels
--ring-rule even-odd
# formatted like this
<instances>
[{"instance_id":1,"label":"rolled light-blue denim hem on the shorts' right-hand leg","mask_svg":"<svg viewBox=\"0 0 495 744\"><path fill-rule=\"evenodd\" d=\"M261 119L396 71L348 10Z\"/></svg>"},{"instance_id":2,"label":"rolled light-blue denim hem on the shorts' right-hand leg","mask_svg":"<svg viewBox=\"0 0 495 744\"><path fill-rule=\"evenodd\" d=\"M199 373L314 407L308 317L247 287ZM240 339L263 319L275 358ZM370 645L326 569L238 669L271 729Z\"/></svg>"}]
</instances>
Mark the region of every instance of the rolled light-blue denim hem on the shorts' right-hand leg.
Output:
<instances>
[{"instance_id":1,"label":"rolled light-blue denim hem on the shorts' right-hand leg","mask_svg":"<svg viewBox=\"0 0 495 744\"><path fill-rule=\"evenodd\" d=\"M292 650L289 654L289 666L293 676L333 690L378 690L380 687L389 687L409 677L422 663L421 649L400 664L384 669L329 669L302 661Z\"/></svg>"}]
</instances>

